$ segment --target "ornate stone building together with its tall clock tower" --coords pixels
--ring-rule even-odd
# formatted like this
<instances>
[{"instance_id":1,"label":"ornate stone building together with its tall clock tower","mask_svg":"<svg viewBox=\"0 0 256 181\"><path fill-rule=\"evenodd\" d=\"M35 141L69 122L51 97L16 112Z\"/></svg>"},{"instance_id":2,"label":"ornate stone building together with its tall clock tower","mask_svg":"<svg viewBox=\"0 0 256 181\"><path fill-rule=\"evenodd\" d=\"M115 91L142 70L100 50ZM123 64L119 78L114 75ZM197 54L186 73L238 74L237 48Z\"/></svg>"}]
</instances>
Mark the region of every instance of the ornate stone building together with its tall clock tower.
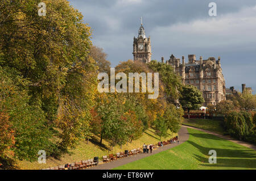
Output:
<instances>
[{"instance_id":1,"label":"ornate stone building together with its tall clock tower","mask_svg":"<svg viewBox=\"0 0 256 181\"><path fill-rule=\"evenodd\" d=\"M137 38L134 37L133 42L134 60L148 63L151 61L151 54L150 37L146 37L141 23L139 35ZM216 105L221 100L226 99L225 79L222 74L220 57L218 57L218 60L214 57L209 57L206 60L200 57L200 60L196 60L195 54L189 54L188 62L185 63L184 56L180 62L180 59L172 54L166 62L162 57L162 63L172 65L184 84L193 85L203 93L205 100L203 106Z\"/></svg>"}]
</instances>

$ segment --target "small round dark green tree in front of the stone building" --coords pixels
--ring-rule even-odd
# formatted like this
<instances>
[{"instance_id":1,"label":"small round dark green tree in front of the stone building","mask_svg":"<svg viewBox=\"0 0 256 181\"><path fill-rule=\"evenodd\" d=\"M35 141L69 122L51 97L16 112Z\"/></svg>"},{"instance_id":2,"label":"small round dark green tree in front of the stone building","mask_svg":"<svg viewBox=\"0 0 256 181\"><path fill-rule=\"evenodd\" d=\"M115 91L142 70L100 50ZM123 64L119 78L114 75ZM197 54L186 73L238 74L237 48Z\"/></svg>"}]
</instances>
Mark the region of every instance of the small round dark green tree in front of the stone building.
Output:
<instances>
[{"instance_id":1,"label":"small round dark green tree in front of the stone building","mask_svg":"<svg viewBox=\"0 0 256 181\"><path fill-rule=\"evenodd\" d=\"M182 107L188 111L189 119L189 111L199 109L201 104L204 103L204 98L200 90L191 85L183 86L180 94L179 102Z\"/></svg>"}]
</instances>

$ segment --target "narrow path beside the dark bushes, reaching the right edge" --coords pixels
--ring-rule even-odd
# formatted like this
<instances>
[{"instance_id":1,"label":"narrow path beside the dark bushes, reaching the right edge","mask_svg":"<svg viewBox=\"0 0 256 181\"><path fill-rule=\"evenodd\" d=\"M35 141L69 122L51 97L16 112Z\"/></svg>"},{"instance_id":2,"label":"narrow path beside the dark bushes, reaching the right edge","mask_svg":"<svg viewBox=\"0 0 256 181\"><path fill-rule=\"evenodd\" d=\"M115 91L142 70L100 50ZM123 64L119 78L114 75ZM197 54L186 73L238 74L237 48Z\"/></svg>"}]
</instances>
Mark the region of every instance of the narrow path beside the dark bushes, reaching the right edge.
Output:
<instances>
[{"instance_id":1,"label":"narrow path beside the dark bushes, reaching the right edge","mask_svg":"<svg viewBox=\"0 0 256 181\"><path fill-rule=\"evenodd\" d=\"M218 133L214 133L214 132L210 132L210 131L207 131L205 129L200 129L200 128L195 128L195 127L189 127L187 125L183 125L182 127L184 128L192 128L192 129L196 129L196 130L199 130L199 131L203 131L203 132L206 132L206 133L209 133L209 134L213 134L217 137L220 137L222 139L225 139L225 140L229 140L229 141L232 141L232 142L235 142L236 144L239 144L239 145L242 145L242 146L246 146L247 148L251 148L253 150L256 150L256 146L253 145L253 144L250 144L248 142L244 142L244 141L238 141L238 140L234 140L234 138L230 137L230 136L223 136L221 134L218 134Z\"/></svg>"}]
</instances>

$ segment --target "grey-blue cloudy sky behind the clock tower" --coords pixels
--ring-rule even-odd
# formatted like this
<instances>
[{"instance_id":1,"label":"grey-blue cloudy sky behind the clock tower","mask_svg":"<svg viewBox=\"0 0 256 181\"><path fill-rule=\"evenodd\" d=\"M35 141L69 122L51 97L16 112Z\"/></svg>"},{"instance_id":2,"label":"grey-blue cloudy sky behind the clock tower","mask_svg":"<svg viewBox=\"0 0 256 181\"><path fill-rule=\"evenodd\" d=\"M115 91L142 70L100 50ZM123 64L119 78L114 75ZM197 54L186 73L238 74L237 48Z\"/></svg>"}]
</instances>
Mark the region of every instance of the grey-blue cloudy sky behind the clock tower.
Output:
<instances>
[{"instance_id":1,"label":"grey-blue cloudy sky behind the clock tower","mask_svg":"<svg viewBox=\"0 0 256 181\"><path fill-rule=\"evenodd\" d=\"M104 49L112 67L133 59L133 37L141 16L151 38L152 60L188 54L221 57L226 87L256 90L255 0L69 0L92 27L92 42ZM210 2L217 16L209 16Z\"/></svg>"}]
</instances>

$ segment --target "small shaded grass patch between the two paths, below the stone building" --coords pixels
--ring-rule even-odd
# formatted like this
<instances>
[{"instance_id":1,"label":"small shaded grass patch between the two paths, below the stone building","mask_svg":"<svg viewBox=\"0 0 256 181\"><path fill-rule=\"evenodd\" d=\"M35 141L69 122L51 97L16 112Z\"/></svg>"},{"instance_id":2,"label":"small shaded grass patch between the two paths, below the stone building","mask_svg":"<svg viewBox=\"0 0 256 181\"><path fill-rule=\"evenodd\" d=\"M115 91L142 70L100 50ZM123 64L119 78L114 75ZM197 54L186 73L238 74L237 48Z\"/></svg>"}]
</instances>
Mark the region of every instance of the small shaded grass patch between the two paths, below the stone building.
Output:
<instances>
[{"instance_id":1,"label":"small shaded grass patch between the two paths, below the stone building","mask_svg":"<svg viewBox=\"0 0 256 181\"><path fill-rule=\"evenodd\" d=\"M212 120L212 119L184 119L183 125L188 125L191 127L201 128L208 131L216 132L218 134L224 134L225 130L222 127L222 120Z\"/></svg>"}]
</instances>

